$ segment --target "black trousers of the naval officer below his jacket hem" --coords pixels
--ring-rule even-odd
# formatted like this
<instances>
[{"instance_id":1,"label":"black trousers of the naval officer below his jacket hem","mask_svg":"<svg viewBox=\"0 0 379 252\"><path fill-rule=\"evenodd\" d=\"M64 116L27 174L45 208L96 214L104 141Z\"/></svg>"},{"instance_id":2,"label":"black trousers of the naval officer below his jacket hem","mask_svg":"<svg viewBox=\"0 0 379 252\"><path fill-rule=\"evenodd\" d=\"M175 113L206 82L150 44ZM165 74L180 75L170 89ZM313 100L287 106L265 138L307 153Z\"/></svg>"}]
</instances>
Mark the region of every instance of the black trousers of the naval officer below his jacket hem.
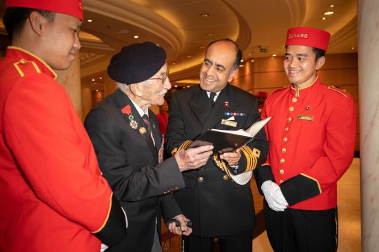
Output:
<instances>
[{"instance_id":1,"label":"black trousers of the naval officer below his jacket hem","mask_svg":"<svg viewBox=\"0 0 379 252\"><path fill-rule=\"evenodd\" d=\"M218 237L220 252L252 252L253 231ZM185 252L214 252L214 238L183 236Z\"/></svg>"}]
</instances>

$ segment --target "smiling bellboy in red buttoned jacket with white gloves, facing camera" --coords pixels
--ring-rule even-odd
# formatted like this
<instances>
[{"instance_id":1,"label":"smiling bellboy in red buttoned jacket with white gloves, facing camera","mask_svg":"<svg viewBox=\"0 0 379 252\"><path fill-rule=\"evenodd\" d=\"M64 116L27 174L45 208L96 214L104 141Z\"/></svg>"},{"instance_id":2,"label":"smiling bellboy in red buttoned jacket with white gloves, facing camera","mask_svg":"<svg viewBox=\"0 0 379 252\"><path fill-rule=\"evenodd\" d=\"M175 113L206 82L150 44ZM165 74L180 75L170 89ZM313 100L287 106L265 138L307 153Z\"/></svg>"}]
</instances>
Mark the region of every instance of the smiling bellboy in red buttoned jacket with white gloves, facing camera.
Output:
<instances>
[{"instance_id":1,"label":"smiling bellboy in red buttoned jacket with white gloves, facing camera","mask_svg":"<svg viewBox=\"0 0 379 252\"><path fill-rule=\"evenodd\" d=\"M288 30L284 68L291 86L269 95L262 111L263 119L273 118L258 187L274 251L337 250L337 181L354 157L356 112L349 94L317 76L329 37L309 27Z\"/></svg>"}]
</instances>

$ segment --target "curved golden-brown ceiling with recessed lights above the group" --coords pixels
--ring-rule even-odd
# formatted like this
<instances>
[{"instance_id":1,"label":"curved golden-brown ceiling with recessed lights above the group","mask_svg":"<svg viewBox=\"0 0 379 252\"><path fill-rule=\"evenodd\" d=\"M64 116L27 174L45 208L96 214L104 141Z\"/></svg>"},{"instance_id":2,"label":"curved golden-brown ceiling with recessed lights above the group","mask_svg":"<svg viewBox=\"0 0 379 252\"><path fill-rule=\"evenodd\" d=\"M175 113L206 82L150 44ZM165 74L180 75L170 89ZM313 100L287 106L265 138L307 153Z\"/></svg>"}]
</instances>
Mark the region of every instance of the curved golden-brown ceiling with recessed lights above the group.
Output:
<instances>
[{"instance_id":1,"label":"curved golden-brown ceiling with recessed lights above the group","mask_svg":"<svg viewBox=\"0 0 379 252\"><path fill-rule=\"evenodd\" d=\"M196 79L209 42L232 38L245 60L282 55L287 29L294 26L330 32L329 54L357 51L356 0L83 0L83 6L84 76L99 71L94 64L106 67L121 47L153 41L167 51L171 80ZM329 10L334 14L325 16Z\"/></svg>"}]
</instances>

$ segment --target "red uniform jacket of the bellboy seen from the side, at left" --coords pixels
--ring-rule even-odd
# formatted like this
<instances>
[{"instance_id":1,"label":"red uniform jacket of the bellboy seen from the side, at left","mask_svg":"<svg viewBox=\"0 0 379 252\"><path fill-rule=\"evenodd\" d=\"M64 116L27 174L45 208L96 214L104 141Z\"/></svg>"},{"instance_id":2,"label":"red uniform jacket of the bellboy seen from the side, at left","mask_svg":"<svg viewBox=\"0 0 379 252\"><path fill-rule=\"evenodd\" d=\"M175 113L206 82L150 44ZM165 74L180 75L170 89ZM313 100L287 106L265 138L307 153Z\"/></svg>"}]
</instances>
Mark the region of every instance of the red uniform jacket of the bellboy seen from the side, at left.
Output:
<instances>
[{"instance_id":1,"label":"red uniform jacket of the bellboy seen from the side, at left","mask_svg":"<svg viewBox=\"0 0 379 252\"><path fill-rule=\"evenodd\" d=\"M100 251L112 191L70 98L28 51L0 69L0 251Z\"/></svg>"}]
</instances>

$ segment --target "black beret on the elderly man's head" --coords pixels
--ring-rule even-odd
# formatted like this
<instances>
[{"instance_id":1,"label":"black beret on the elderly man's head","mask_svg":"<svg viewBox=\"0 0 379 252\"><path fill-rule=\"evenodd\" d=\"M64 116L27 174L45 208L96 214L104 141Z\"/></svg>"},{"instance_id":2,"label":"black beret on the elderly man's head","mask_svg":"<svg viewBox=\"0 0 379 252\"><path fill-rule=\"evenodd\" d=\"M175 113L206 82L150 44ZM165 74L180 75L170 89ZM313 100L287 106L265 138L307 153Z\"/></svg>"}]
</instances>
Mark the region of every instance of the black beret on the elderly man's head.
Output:
<instances>
[{"instance_id":1,"label":"black beret on the elderly man's head","mask_svg":"<svg viewBox=\"0 0 379 252\"><path fill-rule=\"evenodd\" d=\"M134 43L121 49L110 59L108 75L125 84L143 82L163 67L166 52L152 42Z\"/></svg>"}]
</instances>

